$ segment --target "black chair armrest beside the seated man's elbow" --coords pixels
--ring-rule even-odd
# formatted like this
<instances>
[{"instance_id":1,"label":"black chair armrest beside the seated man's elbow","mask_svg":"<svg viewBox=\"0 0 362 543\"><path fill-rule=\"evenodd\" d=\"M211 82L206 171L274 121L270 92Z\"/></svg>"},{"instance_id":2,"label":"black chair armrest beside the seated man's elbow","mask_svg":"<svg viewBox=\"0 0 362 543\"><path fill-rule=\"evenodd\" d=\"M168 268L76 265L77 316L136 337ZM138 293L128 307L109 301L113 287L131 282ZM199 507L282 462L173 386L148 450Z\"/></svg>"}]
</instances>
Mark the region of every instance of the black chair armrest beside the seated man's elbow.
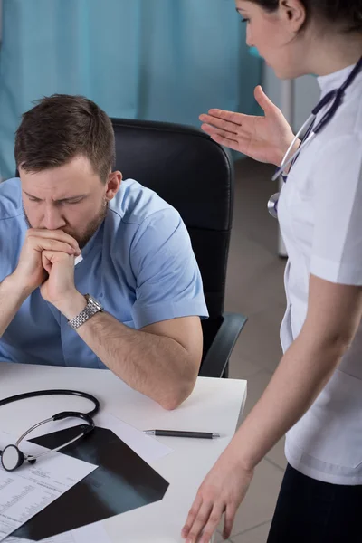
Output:
<instances>
[{"instance_id":1,"label":"black chair armrest beside the seated man's elbow","mask_svg":"<svg viewBox=\"0 0 362 543\"><path fill-rule=\"evenodd\" d=\"M223 323L206 353L200 377L221 377L247 318L238 313L224 313Z\"/></svg>"}]
</instances>

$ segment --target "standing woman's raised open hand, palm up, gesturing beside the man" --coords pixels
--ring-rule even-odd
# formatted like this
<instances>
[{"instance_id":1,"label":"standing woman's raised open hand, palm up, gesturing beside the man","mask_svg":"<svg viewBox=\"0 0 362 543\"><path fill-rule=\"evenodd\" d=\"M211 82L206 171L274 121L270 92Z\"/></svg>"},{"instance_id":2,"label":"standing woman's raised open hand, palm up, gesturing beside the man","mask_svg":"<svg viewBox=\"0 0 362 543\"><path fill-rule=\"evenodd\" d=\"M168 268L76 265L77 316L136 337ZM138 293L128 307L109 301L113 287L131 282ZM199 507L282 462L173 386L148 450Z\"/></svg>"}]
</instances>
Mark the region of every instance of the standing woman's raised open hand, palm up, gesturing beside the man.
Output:
<instances>
[{"instance_id":1,"label":"standing woman's raised open hand, palm up, gesturing beside the man","mask_svg":"<svg viewBox=\"0 0 362 543\"><path fill-rule=\"evenodd\" d=\"M281 110L269 100L261 86L256 87L254 95L264 116L209 110L208 115L200 115L204 123L201 128L225 147L279 166L294 135Z\"/></svg>"}]
</instances>

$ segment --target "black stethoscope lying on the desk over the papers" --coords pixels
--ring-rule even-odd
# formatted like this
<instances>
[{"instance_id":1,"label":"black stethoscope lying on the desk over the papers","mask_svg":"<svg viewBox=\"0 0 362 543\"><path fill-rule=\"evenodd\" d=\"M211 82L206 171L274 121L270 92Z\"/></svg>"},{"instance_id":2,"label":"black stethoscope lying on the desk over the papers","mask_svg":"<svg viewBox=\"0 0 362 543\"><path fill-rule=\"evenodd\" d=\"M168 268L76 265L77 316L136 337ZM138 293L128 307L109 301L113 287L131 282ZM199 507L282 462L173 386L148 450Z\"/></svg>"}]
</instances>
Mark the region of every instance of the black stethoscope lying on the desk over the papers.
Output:
<instances>
[{"instance_id":1,"label":"black stethoscope lying on the desk over the papers","mask_svg":"<svg viewBox=\"0 0 362 543\"><path fill-rule=\"evenodd\" d=\"M14 472L16 468L20 467L24 460L27 462L33 464L37 461L38 458L41 456L45 456L45 454L49 454L51 452L60 451L64 447L67 447L71 443L76 442L77 440L81 439L84 435L87 435L94 429L94 421L93 416L97 414L100 410L100 402L95 398L93 395L87 394L86 392L79 392L78 390L38 390L35 392L27 392L25 394L19 394L10 396L8 398L5 398L4 400L0 400L0 407L6 404L12 404L13 402L18 402L20 400L25 400L27 398L33 398L36 396L43 396L43 395L76 395L80 396L81 398L86 398L87 400L90 400L94 404L93 409L89 413L80 413L78 411L62 411L62 413L57 413L52 415L51 418L48 418L41 423L34 424L29 430L23 433L17 440L17 442L14 445L7 445L5 447L4 451L0 451L1 454L1 464L3 468L7 472ZM40 454L37 454L36 456L29 455L25 456L24 452L20 451L19 444L24 440L26 435L33 432L35 428L38 428L42 424L51 423L52 421L62 421L65 418L80 418L82 421L84 421L87 424L81 424L80 426L77 426L77 428L80 429L79 435L71 439L71 441L67 443L63 443L61 446L56 447L55 449L51 449L49 451L41 452Z\"/></svg>"}]
</instances>

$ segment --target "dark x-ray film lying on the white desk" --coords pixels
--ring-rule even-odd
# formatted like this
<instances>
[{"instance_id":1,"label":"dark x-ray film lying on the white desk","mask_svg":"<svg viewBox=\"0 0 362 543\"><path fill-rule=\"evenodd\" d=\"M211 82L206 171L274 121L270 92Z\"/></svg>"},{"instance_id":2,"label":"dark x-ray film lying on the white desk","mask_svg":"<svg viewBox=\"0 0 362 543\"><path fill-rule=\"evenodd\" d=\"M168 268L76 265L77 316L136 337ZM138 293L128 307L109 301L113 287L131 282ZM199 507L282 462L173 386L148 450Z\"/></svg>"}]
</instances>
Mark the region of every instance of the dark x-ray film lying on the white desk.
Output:
<instances>
[{"instance_id":1,"label":"dark x-ray film lying on the white desk","mask_svg":"<svg viewBox=\"0 0 362 543\"><path fill-rule=\"evenodd\" d=\"M33 439L54 448L79 433L73 426ZM62 453L99 466L71 490L28 520L13 536L38 541L162 500L168 482L115 433L96 427ZM41 462L41 459L38 461Z\"/></svg>"}]
</instances>

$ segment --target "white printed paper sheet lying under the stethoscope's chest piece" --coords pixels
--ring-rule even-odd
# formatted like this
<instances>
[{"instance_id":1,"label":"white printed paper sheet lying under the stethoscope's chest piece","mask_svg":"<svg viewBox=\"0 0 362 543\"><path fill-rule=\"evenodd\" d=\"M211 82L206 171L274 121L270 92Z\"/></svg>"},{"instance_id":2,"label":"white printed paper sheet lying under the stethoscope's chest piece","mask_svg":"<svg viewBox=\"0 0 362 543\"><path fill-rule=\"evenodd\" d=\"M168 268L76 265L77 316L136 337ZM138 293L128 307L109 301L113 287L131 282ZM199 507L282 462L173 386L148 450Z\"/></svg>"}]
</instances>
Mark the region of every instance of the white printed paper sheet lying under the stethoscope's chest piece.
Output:
<instances>
[{"instance_id":1,"label":"white printed paper sheet lying under the stethoscope's chest piece","mask_svg":"<svg viewBox=\"0 0 362 543\"><path fill-rule=\"evenodd\" d=\"M0 449L15 443L16 438L0 431ZM25 454L46 449L34 443L22 443ZM15 472L0 465L0 541L43 510L97 466L53 452L31 465L28 462Z\"/></svg>"}]
</instances>

